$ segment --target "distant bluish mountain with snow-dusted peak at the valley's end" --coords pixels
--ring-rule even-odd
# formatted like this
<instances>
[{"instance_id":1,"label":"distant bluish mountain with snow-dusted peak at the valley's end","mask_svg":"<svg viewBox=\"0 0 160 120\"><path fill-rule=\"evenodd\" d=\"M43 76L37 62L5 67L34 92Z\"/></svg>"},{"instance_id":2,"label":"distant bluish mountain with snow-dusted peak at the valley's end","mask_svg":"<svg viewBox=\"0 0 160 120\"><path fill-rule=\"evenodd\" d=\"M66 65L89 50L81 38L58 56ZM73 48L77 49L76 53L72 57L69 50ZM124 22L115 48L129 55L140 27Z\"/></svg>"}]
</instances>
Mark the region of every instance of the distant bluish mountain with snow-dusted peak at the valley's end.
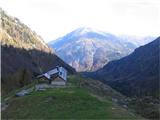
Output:
<instances>
[{"instance_id":1,"label":"distant bluish mountain with snow-dusted peak at the valley's end","mask_svg":"<svg viewBox=\"0 0 160 120\"><path fill-rule=\"evenodd\" d=\"M49 46L55 49L60 58L81 72L97 70L136 48L131 42L91 28L78 28L51 41Z\"/></svg>"}]
</instances>

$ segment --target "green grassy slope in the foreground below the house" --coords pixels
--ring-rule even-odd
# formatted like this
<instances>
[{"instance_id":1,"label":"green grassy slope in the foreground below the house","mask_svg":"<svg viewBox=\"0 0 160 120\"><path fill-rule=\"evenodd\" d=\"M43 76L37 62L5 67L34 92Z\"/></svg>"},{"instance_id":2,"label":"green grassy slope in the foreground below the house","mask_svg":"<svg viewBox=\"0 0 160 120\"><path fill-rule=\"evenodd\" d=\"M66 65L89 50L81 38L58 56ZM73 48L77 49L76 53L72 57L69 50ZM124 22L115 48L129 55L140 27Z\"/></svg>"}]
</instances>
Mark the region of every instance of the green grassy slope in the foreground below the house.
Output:
<instances>
[{"instance_id":1,"label":"green grassy slope in the foreground below the house","mask_svg":"<svg viewBox=\"0 0 160 120\"><path fill-rule=\"evenodd\" d=\"M77 78L77 79L76 79ZM13 97L2 118L28 119L138 119L109 99L93 95L81 86L83 78L71 76L69 87L35 91L24 97Z\"/></svg>"}]
</instances>

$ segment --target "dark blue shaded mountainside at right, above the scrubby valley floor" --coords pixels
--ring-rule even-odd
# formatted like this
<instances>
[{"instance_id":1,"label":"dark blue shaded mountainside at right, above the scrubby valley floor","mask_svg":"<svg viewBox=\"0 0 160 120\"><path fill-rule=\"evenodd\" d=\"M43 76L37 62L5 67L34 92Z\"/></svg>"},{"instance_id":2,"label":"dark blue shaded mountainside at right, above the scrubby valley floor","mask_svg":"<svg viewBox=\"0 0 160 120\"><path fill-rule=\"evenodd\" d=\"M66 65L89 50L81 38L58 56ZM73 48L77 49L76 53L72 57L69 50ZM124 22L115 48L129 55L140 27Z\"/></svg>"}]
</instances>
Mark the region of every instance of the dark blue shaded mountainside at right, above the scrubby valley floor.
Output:
<instances>
[{"instance_id":1,"label":"dark blue shaded mountainside at right, above the scrubby valley floor","mask_svg":"<svg viewBox=\"0 0 160 120\"><path fill-rule=\"evenodd\" d=\"M112 61L95 72L98 78L128 96L159 95L160 38Z\"/></svg>"}]
</instances>

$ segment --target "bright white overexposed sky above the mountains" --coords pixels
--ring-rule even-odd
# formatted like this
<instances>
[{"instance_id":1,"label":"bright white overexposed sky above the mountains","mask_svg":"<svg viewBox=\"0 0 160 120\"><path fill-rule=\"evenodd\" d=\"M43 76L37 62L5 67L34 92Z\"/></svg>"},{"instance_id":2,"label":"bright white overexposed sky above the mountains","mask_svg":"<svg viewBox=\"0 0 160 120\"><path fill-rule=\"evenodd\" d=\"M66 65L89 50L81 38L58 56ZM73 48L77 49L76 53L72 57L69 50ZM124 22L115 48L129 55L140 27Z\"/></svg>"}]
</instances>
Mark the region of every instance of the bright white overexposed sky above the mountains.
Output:
<instances>
[{"instance_id":1,"label":"bright white overexposed sky above the mountains","mask_svg":"<svg viewBox=\"0 0 160 120\"><path fill-rule=\"evenodd\" d=\"M0 7L46 42L79 28L160 35L160 0L0 0Z\"/></svg>"}]
</instances>

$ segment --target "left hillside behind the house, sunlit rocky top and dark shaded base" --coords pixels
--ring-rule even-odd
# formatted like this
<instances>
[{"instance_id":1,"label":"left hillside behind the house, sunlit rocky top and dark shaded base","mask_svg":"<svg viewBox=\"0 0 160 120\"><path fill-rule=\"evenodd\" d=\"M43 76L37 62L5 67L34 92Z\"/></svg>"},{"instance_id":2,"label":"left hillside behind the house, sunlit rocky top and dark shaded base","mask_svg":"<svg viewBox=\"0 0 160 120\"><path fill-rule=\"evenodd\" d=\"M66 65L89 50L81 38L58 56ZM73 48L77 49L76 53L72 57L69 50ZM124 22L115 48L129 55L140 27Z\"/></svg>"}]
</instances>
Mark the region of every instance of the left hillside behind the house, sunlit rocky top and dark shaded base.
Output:
<instances>
[{"instance_id":1,"label":"left hillside behind the house, sunlit rocky top and dark shaded base","mask_svg":"<svg viewBox=\"0 0 160 120\"><path fill-rule=\"evenodd\" d=\"M60 65L75 70L55 55L42 38L0 9L2 95L23 87L42 72Z\"/></svg>"}]
</instances>

